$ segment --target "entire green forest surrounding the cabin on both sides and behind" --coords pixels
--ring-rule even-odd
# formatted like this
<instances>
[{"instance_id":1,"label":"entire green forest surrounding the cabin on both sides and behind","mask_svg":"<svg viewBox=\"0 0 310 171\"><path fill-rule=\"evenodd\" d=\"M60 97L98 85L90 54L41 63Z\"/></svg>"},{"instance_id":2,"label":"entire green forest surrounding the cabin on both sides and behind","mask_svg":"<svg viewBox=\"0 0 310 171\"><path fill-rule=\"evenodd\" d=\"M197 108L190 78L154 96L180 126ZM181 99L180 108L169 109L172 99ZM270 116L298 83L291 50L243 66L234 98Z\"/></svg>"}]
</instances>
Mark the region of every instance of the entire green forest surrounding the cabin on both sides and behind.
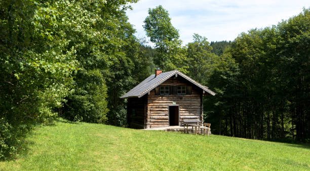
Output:
<instances>
[{"instance_id":1,"label":"entire green forest surrounding the cabin on both sides and behind","mask_svg":"<svg viewBox=\"0 0 310 171\"><path fill-rule=\"evenodd\" d=\"M0 1L0 159L31 129L58 117L126 127L120 96L160 67L217 94L204 98L212 133L310 141L310 8L234 41L193 33L182 46L162 6L134 36L126 11L137 0Z\"/></svg>"}]
</instances>

